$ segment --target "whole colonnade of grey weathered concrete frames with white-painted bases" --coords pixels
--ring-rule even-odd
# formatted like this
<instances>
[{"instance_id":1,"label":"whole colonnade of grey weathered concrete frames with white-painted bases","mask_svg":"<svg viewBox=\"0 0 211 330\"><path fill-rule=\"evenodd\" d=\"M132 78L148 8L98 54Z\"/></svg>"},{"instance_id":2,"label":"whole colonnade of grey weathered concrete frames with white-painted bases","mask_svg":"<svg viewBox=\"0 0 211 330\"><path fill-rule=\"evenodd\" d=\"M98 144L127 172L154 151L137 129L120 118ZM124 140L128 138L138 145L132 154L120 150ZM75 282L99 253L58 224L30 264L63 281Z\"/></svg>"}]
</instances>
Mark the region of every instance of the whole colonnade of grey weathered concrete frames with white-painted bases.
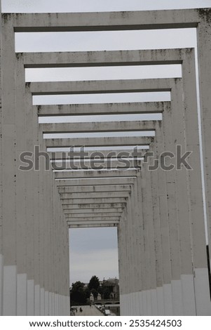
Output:
<instances>
[{"instance_id":1,"label":"whole colonnade of grey weathered concrete frames with white-painted bases","mask_svg":"<svg viewBox=\"0 0 211 330\"><path fill-rule=\"evenodd\" d=\"M210 8L2 15L1 315L69 315L68 230L109 226L121 315L211 315L210 17ZM15 51L22 32L178 28L196 29L197 52ZM174 64L181 77L25 81L28 68ZM135 101L151 92L170 98ZM38 95L79 102L37 104Z\"/></svg>"}]
</instances>

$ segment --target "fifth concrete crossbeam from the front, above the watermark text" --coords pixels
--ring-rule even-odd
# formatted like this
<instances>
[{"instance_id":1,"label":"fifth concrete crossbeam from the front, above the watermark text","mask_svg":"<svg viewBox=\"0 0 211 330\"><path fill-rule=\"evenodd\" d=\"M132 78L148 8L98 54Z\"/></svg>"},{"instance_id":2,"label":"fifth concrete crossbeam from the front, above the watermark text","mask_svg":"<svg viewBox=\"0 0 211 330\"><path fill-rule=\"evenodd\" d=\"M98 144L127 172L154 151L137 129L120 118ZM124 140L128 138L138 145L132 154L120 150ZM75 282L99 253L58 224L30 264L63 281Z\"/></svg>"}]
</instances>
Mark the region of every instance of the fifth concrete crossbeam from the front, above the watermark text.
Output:
<instances>
[{"instance_id":1,"label":"fifth concrete crossbeam from the front, above the watermark text","mask_svg":"<svg viewBox=\"0 0 211 330\"><path fill-rule=\"evenodd\" d=\"M43 133L86 133L109 131L154 131L156 120L150 121L107 121L91 123L39 124Z\"/></svg>"}]
</instances>

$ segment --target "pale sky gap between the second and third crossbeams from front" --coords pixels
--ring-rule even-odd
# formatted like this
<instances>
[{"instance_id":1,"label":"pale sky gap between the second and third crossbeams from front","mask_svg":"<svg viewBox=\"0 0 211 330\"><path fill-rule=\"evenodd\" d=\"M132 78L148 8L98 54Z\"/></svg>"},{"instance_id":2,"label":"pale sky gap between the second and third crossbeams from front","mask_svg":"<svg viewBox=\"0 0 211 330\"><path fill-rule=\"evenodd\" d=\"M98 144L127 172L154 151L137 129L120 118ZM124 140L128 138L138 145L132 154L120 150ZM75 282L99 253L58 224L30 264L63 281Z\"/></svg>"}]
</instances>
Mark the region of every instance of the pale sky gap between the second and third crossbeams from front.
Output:
<instances>
[{"instance_id":1,"label":"pale sky gap between the second and third crossbeams from front","mask_svg":"<svg viewBox=\"0 0 211 330\"><path fill-rule=\"evenodd\" d=\"M25 69L25 81L92 81L181 78L182 65L124 65Z\"/></svg>"}]
</instances>

